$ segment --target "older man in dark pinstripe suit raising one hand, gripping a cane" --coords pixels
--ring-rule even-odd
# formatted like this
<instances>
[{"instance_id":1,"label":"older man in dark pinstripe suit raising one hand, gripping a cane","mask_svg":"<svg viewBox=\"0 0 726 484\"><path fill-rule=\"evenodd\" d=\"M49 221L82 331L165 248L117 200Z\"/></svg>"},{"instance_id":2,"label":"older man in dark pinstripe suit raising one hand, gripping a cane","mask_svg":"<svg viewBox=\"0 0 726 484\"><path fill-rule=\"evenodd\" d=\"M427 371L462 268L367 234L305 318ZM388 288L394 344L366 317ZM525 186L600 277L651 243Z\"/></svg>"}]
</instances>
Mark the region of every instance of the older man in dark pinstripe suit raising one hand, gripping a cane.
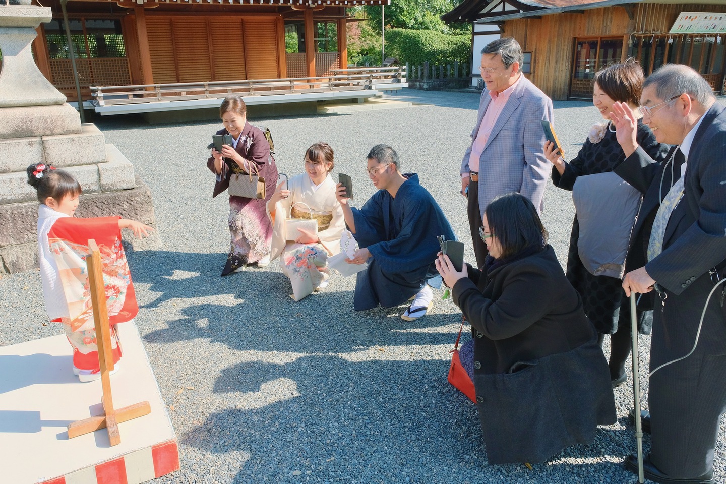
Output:
<instances>
[{"instance_id":1,"label":"older man in dark pinstripe suit raising one hand, gripping a cane","mask_svg":"<svg viewBox=\"0 0 726 484\"><path fill-rule=\"evenodd\" d=\"M623 287L627 295L657 292L652 445L644 461L645 477L656 483L714 482L719 417L726 411L726 285L715 287L726 259L726 107L715 101L688 66L665 65L648 77L643 121L658 142L677 145L662 165L637 146L637 119L626 105L616 103L611 115L627 155L615 172L644 193ZM625 467L637 473L635 456Z\"/></svg>"}]
</instances>

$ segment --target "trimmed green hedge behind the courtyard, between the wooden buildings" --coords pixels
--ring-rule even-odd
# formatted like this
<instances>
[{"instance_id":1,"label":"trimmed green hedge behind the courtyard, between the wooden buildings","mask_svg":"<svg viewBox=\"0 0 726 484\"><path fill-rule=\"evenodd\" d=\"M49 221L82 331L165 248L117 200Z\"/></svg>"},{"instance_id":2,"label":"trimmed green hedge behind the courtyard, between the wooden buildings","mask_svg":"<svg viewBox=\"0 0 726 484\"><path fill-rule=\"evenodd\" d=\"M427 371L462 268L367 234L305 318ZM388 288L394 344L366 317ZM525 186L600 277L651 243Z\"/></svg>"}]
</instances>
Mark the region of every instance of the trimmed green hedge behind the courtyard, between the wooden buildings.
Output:
<instances>
[{"instance_id":1,"label":"trimmed green hedge behind the courtyard, between the wooden buildings","mask_svg":"<svg viewBox=\"0 0 726 484\"><path fill-rule=\"evenodd\" d=\"M396 57L401 64L448 64L470 61L471 36L450 36L436 30L386 30L386 57Z\"/></svg>"}]
</instances>

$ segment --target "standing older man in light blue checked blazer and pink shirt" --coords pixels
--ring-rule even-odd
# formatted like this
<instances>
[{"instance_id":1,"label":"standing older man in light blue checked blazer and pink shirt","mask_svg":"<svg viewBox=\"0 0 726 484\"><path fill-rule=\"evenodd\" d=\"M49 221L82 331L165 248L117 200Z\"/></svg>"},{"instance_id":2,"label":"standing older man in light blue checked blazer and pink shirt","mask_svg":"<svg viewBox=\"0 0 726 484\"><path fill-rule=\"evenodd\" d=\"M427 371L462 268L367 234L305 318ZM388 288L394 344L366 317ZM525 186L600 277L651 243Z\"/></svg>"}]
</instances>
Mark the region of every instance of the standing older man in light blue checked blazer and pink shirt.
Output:
<instances>
[{"instance_id":1,"label":"standing older man in light blue checked blazer and pink shirt","mask_svg":"<svg viewBox=\"0 0 726 484\"><path fill-rule=\"evenodd\" d=\"M542 120L552 120L552 100L521 72L524 55L511 37L481 51L479 115L461 163L461 190L468 197L471 237L478 266L486 245L479 235L486 205L507 192L520 192L542 211L551 166L544 157Z\"/></svg>"}]
</instances>

